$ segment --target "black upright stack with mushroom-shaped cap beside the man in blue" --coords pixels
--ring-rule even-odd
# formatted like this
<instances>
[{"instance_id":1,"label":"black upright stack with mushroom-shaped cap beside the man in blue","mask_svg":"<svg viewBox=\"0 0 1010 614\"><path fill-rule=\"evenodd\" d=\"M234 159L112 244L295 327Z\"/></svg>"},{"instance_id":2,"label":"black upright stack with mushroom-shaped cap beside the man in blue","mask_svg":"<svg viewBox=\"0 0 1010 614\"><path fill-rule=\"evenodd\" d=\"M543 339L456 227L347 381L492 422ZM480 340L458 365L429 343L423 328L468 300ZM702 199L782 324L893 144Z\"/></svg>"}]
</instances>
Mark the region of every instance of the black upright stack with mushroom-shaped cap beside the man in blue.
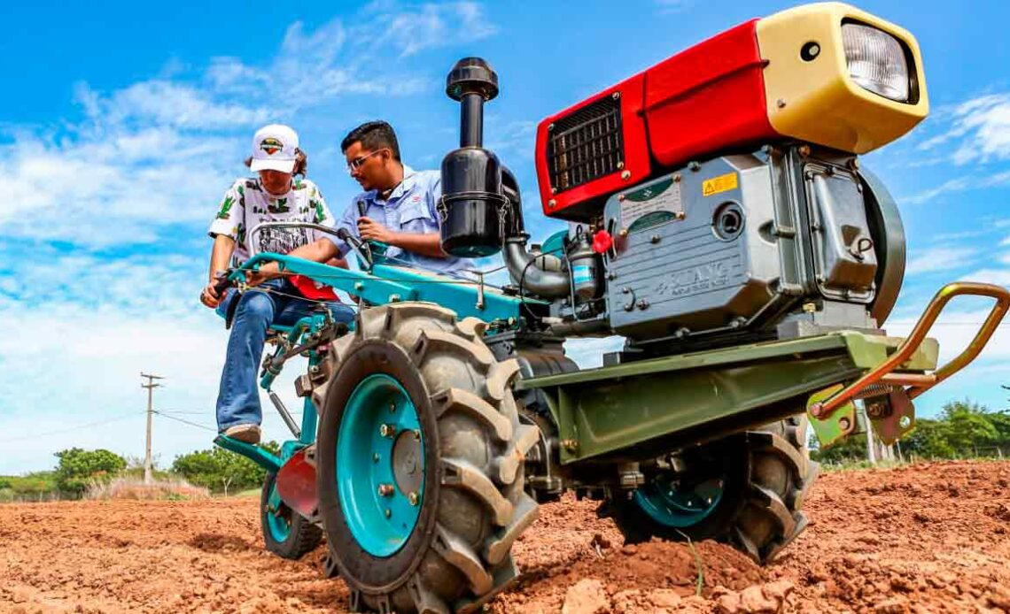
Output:
<instances>
[{"instance_id":1,"label":"black upright stack with mushroom-shaped cap beside the man in blue","mask_svg":"<svg viewBox=\"0 0 1010 614\"><path fill-rule=\"evenodd\" d=\"M445 94L460 103L460 148L442 159L441 247L453 256L480 257L502 247L508 199L502 165L483 147L484 103L498 96L498 76L480 57L464 57L445 79Z\"/></svg>"}]
</instances>

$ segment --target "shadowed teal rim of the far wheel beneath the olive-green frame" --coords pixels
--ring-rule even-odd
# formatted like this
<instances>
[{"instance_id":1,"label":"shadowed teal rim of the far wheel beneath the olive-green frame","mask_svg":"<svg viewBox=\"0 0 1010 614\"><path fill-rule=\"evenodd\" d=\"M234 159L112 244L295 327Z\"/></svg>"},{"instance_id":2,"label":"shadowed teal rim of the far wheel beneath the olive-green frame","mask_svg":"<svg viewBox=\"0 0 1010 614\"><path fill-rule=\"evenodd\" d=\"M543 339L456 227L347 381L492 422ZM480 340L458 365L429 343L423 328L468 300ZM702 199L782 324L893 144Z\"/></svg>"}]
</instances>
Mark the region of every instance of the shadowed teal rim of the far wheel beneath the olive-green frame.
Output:
<instances>
[{"instance_id":1,"label":"shadowed teal rim of the far wheel beneath the olive-green frame","mask_svg":"<svg viewBox=\"0 0 1010 614\"><path fill-rule=\"evenodd\" d=\"M655 476L634 493L634 502L663 526L687 528L707 518L722 500L723 481L710 479L685 487Z\"/></svg>"}]
</instances>

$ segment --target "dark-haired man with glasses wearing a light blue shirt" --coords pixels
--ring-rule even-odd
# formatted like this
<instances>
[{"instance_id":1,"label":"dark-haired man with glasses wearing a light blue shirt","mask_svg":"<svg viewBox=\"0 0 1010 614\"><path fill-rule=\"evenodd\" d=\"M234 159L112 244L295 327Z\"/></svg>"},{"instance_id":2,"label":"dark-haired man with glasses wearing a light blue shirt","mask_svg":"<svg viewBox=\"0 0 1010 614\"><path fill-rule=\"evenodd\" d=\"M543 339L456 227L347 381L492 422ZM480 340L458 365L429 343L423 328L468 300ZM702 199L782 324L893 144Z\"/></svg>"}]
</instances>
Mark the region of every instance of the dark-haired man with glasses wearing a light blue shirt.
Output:
<instances>
[{"instance_id":1,"label":"dark-haired man with glasses wearing a light blue shirt","mask_svg":"<svg viewBox=\"0 0 1010 614\"><path fill-rule=\"evenodd\" d=\"M365 192L355 197L337 228L387 244L391 264L442 272L473 267L470 259L441 250L435 209L441 173L404 165L392 126L384 121L362 124L344 137L340 149L350 176ZM340 242L338 249L343 255L350 247Z\"/></svg>"}]
</instances>

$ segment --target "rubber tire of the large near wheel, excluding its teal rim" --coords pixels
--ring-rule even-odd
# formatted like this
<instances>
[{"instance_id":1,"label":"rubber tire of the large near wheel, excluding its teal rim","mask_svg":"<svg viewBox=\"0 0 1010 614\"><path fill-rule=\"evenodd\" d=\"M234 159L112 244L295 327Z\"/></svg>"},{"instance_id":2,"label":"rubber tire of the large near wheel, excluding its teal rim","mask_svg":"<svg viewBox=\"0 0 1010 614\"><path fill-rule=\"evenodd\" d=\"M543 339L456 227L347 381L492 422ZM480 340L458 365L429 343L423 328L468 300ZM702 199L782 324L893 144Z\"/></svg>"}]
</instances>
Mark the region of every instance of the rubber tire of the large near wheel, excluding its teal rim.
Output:
<instances>
[{"instance_id":1,"label":"rubber tire of the large near wheel, excluding its teal rim","mask_svg":"<svg viewBox=\"0 0 1010 614\"><path fill-rule=\"evenodd\" d=\"M408 614L477 609L516 576L511 547L536 518L523 459L536 442L520 424L514 360L484 345L483 322L404 302L363 310L333 342L333 376L314 391L324 408L317 447L319 512L351 611ZM395 378L414 403L424 448L417 522L399 550L375 557L355 539L335 484L344 406L364 377ZM319 403L322 401L322 403Z\"/></svg>"}]
</instances>

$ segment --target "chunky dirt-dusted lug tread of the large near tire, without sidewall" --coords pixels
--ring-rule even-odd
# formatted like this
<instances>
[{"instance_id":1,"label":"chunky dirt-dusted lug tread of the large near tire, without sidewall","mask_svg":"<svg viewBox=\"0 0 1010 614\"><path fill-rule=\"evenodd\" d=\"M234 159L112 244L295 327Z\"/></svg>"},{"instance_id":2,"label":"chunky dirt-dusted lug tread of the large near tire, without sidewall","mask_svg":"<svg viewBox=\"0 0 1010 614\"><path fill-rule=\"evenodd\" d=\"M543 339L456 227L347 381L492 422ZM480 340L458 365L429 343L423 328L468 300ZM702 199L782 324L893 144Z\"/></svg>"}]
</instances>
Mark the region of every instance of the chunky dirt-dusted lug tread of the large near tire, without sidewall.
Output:
<instances>
[{"instance_id":1,"label":"chunky dirt-dusted lug tread of the large near tire, without sidewall","mask_svg":"<svg viewBox=\"0 0 1010 614\"><path fill-rule=\"evenodd\" d=\"M361 593L361 609L396 604L401 614L462 612L479 608L517 574L511 546L538 514L522 485L525 454L539 434L519 422L511 390L518 362L497 362L483 342L486 326L475 318L458 321L434 303L391 303L362 310L355 334L330 346L331 373L369 340L392 342L407 353L428 390L437 391L430 401L443 447L441 496L462 505L439 505L423 563L388 593ZM324 406L326 385L317 390L313 398ZM446 446L459 454L446 453ZM474 526L484 528L474 533Z\"/></svg>"}]
</instances>

